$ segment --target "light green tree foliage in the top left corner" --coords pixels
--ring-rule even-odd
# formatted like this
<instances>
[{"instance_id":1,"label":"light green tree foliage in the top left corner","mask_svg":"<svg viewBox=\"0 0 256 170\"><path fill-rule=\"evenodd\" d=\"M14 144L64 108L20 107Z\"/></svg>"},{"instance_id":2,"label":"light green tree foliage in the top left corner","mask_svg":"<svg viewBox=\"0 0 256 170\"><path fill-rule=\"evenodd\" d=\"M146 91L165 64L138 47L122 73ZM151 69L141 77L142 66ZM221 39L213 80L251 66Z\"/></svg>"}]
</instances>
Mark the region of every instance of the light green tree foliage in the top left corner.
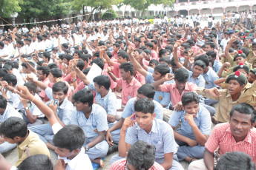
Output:
<instances>
[{"instance_id":1,"label":"light green tree foliage in the top left corner","mask_svg":"<svg viewBox=\"0 0 256 170\"><path fill-rule=\"evenodd\" d=\"M11 14L19 12L19 0L0 0L0 16L9 18Z\"/></svg>"}]
</instances>

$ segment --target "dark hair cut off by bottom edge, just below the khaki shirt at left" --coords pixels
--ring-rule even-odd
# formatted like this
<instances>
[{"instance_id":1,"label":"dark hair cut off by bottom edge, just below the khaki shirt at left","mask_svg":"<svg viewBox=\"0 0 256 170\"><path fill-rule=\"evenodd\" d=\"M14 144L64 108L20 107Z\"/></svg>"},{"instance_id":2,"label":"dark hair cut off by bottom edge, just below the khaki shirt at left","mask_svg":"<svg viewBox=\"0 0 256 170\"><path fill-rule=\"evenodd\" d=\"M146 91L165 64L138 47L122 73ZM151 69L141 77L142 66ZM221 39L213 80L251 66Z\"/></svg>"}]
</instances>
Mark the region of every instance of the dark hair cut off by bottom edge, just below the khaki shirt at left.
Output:
<instances>
[{"instance_id":1,"label":"dark hair cut off by bottom edge, just below the khaki shirt at left","mask_svg":"<svg viewBox=\"0 0 256 170\"><path fill-rule=\"evenodd\" d=\"M17 168L18 170L53 170L53 163L46 154L36 154L27 157Z\"/></svg>"}]
</instances>

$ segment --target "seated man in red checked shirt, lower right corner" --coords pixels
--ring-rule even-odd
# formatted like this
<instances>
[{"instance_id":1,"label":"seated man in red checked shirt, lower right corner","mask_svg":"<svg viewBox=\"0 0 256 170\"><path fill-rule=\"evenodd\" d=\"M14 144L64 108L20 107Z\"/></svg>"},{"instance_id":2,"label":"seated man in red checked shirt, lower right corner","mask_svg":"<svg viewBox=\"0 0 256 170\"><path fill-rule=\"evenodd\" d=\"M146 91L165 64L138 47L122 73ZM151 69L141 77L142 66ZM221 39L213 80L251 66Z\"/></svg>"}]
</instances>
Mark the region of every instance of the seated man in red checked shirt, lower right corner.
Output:
<instances>
[{"instance_id":1,"label":"seated man in red checked shirt, lower right corner","mask_svg":"<svg viewBox=\"0 0 256 170\"><path fill-rule=\"evenodd\" d=\"M188 166L188 170L214 169L214 152L245 152L256 162L256 129L255 109L248 103L239 103L230 112L229 123L220 123L214 127L206 142L203 160L196 160ZM215 155L216 158L217 155Z\"/></svg>"}]
</instances>

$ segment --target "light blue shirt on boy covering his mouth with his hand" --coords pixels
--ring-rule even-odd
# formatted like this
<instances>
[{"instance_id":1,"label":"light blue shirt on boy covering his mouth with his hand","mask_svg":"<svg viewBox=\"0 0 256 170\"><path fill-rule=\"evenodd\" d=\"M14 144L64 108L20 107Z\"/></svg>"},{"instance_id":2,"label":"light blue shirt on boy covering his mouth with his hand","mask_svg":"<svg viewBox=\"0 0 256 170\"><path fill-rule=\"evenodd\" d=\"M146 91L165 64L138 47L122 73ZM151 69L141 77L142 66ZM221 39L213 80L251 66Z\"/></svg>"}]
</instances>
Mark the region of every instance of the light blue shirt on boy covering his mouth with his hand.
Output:
<instances>
[{"instance_id":1,"label":"light blue shirt on boy covering his mouth with his hand","mask_svg":"<svg viewBox=\"0 0 256 170\"><path fill-rule=\"evenodd\" d=\"M171 118L168 123L171 126L176 127L181 120L181 130L187 135L194 136L193 129L188 124L188 121L185 120L186 110L176 112L174 111L171 114ZM197 116L194 118L194 123L197 124L198 129L203 135L210 135L211 132L211 115L209 111L202 105L199 104L199 110L197 112Z\"/></svg>"}]
</instances>

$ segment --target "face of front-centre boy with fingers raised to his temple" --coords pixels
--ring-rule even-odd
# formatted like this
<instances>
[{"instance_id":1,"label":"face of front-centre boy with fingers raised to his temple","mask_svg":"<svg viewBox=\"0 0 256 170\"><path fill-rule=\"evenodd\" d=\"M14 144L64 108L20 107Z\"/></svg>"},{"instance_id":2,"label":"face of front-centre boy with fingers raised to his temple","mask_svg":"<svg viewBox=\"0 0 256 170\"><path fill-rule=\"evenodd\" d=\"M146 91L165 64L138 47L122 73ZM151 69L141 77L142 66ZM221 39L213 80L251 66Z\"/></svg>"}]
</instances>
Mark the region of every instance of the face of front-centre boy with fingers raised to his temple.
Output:
<instances>
[{"instance_id":1,"label":"face of front-centre boy with fingers raised to his temple","mask_svg":"<svg viewBox=\"0 0 256 170\"><path fill-rule=\"evenodd\" d=\"M151 113L145 114L143 112L135 112L136 122L138 123L138 126L140 126L141 129L151 129L155 117L155 113L152 115Z\"/></svg>"}]
</instances>

